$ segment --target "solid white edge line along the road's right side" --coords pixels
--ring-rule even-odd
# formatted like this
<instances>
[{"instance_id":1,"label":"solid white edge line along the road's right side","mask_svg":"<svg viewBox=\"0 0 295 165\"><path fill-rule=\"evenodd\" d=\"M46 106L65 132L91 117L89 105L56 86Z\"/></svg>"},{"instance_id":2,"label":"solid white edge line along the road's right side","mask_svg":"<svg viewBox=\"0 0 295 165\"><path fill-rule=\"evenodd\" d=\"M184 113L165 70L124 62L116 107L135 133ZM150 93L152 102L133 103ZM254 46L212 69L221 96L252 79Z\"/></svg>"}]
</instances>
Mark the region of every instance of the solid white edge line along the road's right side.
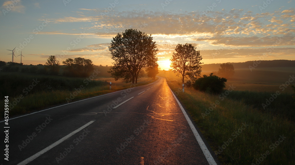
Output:
<instances>
[{"instance_id":1,"label":"solid white edge line along the road's right side","mask_svg":"<svg viewBox=\"0 0 295 165\"><path fill-rule=\"evenodd\" d=\"M169 87L169 85L168 85L168 87ZM170 87L169 87L169 89L171 90ZM172 90L171 90L171 92L172 92ZM215 160L212 157L211 153L209 152L207 146L205 145L202 138L200 137L199 132L196 130L194 124L191 122L191 119L189 119L189 116L186 114L185 110L183 109L182 105L180 104L179 100L177 99L177 97L174 95L173 92L172 92L172 94L173 94L176 102L178 103L181 111L183 112L183 115L186 118L186 121L189 123L189 127L191 127L191 130L193 131L193 133L194 133L194 135L195 135L195 137L196 137L196 139L197 139L197 141L198 141L198 143L199 143L199 145L200 145L200 147L201 147L201 149L202 149L208 163L212 164L212 165L215 165L215 164L217 165L217 163L215 162Z\"/></svg>"}]
</instances>

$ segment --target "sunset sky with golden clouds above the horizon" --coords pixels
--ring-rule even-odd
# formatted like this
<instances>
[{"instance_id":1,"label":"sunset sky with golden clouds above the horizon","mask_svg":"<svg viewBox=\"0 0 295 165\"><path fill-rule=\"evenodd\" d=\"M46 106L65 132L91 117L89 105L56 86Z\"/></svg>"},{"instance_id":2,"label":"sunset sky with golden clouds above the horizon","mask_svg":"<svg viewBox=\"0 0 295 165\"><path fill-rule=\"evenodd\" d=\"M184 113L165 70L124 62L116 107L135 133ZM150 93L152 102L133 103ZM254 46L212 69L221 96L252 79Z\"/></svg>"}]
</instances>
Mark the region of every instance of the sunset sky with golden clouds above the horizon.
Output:
<instances>
[{"instance_id":1,"label":"sunset sky with golden clouds above the horizon","mask_svg":"<svg viewBox=\"0 0 295 165\"><path fill-rule=\"evenodd\" d=\"M165 70L178 43L195 46L204 64L295 60L294 0L0 0L0 6L6 62L16 47L24 65L45 64L50 55L60 63L83 57L112 65L108 46L130 28L152 35Z\"/></svg>"}]
</instances>

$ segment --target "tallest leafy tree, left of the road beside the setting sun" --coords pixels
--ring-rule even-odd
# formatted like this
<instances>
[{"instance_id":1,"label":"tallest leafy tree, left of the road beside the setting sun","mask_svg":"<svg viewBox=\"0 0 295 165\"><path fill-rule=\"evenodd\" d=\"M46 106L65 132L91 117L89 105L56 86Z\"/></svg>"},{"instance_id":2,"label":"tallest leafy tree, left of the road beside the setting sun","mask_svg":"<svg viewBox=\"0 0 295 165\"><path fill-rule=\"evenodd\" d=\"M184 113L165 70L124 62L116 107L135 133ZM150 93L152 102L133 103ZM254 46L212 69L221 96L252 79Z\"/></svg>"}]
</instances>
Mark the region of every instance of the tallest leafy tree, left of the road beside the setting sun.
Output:
<instances>
[{"instance_id":1,"label":"tallest leafy tree, left of the road beside the setting sun","mask_svg":"<svg viewBox=\"0 0 295 165\"><path fill-rule=\"evenodd\" d=\"M157 64L156 44L151 35L134 29L127 29L118 33L109 46L111 58L115 60L109 73L118 80L137 83L137 78L143 70Z\"/></svg>"}]
</instances>

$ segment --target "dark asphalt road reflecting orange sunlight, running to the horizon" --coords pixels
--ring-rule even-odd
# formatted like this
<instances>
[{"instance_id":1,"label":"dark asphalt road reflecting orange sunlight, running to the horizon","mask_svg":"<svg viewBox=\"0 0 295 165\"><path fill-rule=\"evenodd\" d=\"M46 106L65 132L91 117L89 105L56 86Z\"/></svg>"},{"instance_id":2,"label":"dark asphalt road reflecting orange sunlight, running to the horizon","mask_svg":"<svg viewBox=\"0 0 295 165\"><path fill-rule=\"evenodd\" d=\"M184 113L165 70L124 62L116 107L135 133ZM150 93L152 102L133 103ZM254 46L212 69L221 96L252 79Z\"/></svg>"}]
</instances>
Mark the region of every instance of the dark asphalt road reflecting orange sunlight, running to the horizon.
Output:
<instances>
[{"instance_id":1,"label":"dark asphalt road reflecting orange sunlight, running to the horizon","mask_svg":"<svg viewBox=\"0 0 295 165\"><path fill-rule=\"evenodd\" d=\"M209 164L165 78L11 119L9 127L3 164Z\"/></svg>"}]
</instances>

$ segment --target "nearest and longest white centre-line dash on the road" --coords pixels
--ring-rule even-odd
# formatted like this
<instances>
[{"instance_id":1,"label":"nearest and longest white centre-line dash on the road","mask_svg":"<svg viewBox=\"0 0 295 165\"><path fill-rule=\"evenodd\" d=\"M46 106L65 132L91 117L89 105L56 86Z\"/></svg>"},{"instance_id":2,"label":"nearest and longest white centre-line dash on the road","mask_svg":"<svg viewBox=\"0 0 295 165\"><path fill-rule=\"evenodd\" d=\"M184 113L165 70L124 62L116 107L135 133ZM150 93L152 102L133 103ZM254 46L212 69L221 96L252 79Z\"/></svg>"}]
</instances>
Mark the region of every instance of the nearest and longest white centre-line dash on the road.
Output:
<instances>
[{"instance_id":1,"label":"nearest and longest white centre-line dash on the road","mask_svg":"<svg viewBox=\"0 0 295 165\"><path fill-rule=\"evenodd\" d=\"M40 155L44 154L45 152L49 151L50 149L52 149L53 147L57 146L58 144L62 143L63 141L65 141L66 139L68 139L69 137L73 136L74 134L76 134L77 132L81 131L82 129L84 129L85 127L89 126L90 124L92 124L93 122L95 122L95 120L92 120L91 122L83 125L82 127L76 129L75 131L71 132L70 134L68 134L67 136L59 139L58 141L56 141L55 143L51 144L50 146L46 147L45 149L42 149L41 151L39 151L38 153L36 153L35 155L29 157L28 159L20 162L17 165L24 165L24 164L28 164L29 162L33 161L34 159L36 159L37 157L39 157Z\"/></svg>"}]
</instances>

